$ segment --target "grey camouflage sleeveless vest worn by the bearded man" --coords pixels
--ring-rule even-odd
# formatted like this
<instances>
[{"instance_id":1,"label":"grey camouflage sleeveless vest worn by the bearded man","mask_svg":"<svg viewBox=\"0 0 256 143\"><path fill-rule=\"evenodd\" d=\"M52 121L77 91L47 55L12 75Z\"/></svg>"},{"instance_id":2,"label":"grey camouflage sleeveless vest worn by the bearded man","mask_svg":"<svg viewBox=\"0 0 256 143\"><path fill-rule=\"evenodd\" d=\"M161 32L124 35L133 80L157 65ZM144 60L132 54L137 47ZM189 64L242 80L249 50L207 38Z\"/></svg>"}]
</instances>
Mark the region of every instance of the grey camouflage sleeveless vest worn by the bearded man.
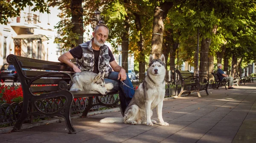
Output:
<instances>
[{"instance_id":1,"label":"grey camouflage sleeveless vest worn by the bearded man","mask_svg":"<svg viewBox=\"0 0 256 143\"><path fill-rule=\"evenodd\" d=\"M81 59L76 59L76 63L81 71L93 72L94 68L94 53L93 48L90 44L93 39L83 44L80 44L83 56ZM105 78L108 78L109 73L111 73L112 68L109 66L110 56L108 55L108 46L103 45L100 47L98 69L99 72L103 73L105 71Z\"/></svg>"}]
</instances>

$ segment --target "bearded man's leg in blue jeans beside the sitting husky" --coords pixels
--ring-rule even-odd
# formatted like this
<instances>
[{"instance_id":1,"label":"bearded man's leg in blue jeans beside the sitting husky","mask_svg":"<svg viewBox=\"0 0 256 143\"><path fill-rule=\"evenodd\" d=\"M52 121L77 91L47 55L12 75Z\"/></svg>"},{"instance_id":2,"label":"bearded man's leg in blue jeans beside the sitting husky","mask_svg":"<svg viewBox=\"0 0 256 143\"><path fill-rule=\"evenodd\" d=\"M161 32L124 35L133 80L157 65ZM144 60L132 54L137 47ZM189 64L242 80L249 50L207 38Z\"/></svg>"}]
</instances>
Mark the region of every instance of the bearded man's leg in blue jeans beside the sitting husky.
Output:
<instances>
[{"instance_id":1,"label":"bearded man's leg in blue jeans beside the sitting husky","mask_svg":"<svg viewBox=\"0 0 256 143\"><path fill-rule=\"evenodd\" d=\"M130 103L131 98L134 96L135 90L133 89L133 85L132 85L131 80L129 79L127 73L126 73L127 78L123 82L126 85L128 85L129 87L124 85L120 80L117 80L118 79L118 74L119 74L119 72L111 72L108 75L108 79L112 79L112 80L115 80L115 81L119 82L119 87L120 87L119 98L120 98L122 110L124 112L126 107L128 106L128 104Z\"/></svg>"}]
</instances>

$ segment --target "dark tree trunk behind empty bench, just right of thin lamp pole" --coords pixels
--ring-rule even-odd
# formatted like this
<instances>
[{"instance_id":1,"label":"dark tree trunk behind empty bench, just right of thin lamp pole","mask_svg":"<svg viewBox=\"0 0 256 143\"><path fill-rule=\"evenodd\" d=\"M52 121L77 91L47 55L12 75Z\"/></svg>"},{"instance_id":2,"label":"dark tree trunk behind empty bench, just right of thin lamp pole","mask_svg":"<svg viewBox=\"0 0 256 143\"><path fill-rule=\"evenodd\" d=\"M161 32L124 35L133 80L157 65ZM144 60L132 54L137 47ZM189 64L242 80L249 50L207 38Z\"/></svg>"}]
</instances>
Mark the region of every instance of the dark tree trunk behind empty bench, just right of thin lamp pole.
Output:
<instances>
[{"instance_id":1,"label":"dark tree trunk behind empty bench, just right of thin lamp pole","mask_svg":"<svg viewBox=\"0 0 256 143\"><path fill-rule=\"evenodd\" d=\"M208 76L208 52L211 39L202 38L201 52L200 52L200 64L199 64L199 76Z\"/></svg>"}]
</instances>

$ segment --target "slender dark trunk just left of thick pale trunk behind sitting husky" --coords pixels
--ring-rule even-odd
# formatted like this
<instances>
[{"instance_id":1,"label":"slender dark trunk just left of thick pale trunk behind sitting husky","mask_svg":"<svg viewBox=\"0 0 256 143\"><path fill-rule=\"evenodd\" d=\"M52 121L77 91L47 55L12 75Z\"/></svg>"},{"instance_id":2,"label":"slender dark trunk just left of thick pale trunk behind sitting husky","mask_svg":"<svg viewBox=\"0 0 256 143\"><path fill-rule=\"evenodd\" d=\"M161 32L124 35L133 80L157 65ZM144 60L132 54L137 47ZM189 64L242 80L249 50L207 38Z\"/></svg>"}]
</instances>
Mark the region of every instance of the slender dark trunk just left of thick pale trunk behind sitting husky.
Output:
<instances>
[{"instance_id":1,"label":"slender dark trunk just left of thick pale trunk behind sitting husky","mask_svg":"<svg viewBox=\"0 0 256 143\"><path fill-rule=\"evenodd\" d=\"M140 40L137 42L138 44L138 47L139 47L139 82L142 82L144 79L145 79L145 54L143 52L143 50L145 49L145 46L144 46L144 37L142 35L142 25L141 25L141 22L140 22L140 15L139 14L136 14L134 13L134 16L135 16L135 26L136 26L136 29L137 29L137 32L140 34Z\"/></svg>"}]
</instances>

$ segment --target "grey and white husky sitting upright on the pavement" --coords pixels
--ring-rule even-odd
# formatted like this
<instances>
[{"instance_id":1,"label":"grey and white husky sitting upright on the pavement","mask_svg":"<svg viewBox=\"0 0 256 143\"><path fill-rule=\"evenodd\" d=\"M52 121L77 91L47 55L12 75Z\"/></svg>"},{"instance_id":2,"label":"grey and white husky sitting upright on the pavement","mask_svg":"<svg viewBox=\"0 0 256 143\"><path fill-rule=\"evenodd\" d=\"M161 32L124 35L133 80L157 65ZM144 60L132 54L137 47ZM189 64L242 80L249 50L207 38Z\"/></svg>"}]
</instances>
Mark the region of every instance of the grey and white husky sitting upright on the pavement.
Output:
<instances>
[{"instance_id":1,"label":"grey and white husky sitting upright on the pavement","mask_svg":"<svg viewBox=\"0 0 256 143\"><path fill-rule=\"evenodd\" d=\"M169 126L169 123L164 122L162 117L166 75L164 55L160 59L154 59L150 55L149 62L145 81L135 91L134 97L125 109L124 117L104 118L100 120L101 123L128 123L132 125L147 123L148 126L153 126L153 123L157 122L151 120L152 109L157 107L160 125Z\"/></svg>"}]
</instances>

